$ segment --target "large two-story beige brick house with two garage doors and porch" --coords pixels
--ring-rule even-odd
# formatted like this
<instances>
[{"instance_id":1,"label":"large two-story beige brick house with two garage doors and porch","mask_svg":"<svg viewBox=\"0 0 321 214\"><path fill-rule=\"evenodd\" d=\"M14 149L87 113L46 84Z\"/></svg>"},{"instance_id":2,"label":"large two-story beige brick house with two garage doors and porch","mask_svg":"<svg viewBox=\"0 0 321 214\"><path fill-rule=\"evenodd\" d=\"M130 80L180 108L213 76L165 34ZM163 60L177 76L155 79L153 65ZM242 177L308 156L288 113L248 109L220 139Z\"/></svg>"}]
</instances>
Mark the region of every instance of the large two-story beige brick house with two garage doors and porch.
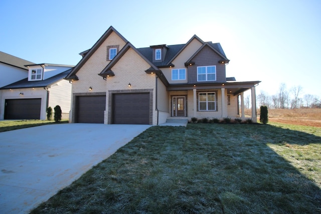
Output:
<instances>
[{"instance_id":1,"label":"large two-story beige brick house with two garage doors and porch","mask_svg":"<svg viewBox=\"0 0 321 214\"><path fill-rule=\"evenodd\" d=\"M186 44L135 48L110 27L80 55L66 77L72 81L73 123L157 125L170 117L245 118L246 90L256 106L260 81L226 77L229 59L221 45L196 35Z\"/></svg>"}]
</instances>

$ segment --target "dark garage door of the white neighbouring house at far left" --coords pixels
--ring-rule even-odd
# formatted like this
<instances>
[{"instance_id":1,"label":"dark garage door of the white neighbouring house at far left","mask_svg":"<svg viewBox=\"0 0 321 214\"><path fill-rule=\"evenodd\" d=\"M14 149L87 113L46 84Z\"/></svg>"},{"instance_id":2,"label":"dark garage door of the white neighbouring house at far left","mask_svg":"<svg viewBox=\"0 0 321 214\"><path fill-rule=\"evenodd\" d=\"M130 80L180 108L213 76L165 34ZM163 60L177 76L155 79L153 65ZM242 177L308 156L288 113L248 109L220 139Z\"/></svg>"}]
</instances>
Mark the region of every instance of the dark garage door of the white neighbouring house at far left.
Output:
<instances>
[{"instance_id":1,"label":"dark garage door of the white neighbouring house at far left","mask_svg":"<svg viewBox=\"0 0 321 214\"><path fill-rule=\"evenodd\" d=\"M5 119L40 119L41 99L5 100Z\"/></svg>"}]
</instances>

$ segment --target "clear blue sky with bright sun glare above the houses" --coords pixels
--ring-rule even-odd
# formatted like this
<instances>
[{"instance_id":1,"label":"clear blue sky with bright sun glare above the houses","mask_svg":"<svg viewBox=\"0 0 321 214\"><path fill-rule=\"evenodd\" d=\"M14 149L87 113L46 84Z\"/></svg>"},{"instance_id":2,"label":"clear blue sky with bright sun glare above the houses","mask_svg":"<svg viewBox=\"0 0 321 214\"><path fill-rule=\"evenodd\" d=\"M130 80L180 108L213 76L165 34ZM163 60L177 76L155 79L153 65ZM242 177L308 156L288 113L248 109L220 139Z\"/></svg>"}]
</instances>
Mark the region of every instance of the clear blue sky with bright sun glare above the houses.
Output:
<instances>
[{"instance_id":1,"label":"clear blue sky with bright sun glare above the houses","mask_svg":"<svg viewBox=\"0 0 321 214\"><path fill-rule=\"evenodd\" d=\"M321 98L319 0L0 0L0 51L36 64L76 65L110 26L136 48L197 35L222 45L227 77L262 81L256 94Z\"/></svg>"}]
</instances>

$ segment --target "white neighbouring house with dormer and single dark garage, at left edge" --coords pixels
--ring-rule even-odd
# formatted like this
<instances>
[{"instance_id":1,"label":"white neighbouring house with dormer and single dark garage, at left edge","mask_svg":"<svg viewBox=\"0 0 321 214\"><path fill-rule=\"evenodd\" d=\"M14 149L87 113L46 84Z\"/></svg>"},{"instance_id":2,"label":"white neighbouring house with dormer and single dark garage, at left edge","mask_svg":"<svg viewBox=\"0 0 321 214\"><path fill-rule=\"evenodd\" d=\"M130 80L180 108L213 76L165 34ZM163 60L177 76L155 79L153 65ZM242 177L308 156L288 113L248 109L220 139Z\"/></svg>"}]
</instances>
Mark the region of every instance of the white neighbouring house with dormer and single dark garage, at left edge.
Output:
<instances>
[{"instance_id":1,"label":"white neighbouring house with dormer and single dark garage, at left edge","mask_svg":"<svg viewBox=\"0 0 321 214\"><path fill-rule=\"evenodd\" d=\"M69 118L72 85L64 78L73 66L30 62L24 66L24 79L0 88L0 119L45 120L47 107L54 109L56 105L61 107L63 118ZM5 70L3 77L9 78L12 71Z\"/></svg>"}]
</instances>

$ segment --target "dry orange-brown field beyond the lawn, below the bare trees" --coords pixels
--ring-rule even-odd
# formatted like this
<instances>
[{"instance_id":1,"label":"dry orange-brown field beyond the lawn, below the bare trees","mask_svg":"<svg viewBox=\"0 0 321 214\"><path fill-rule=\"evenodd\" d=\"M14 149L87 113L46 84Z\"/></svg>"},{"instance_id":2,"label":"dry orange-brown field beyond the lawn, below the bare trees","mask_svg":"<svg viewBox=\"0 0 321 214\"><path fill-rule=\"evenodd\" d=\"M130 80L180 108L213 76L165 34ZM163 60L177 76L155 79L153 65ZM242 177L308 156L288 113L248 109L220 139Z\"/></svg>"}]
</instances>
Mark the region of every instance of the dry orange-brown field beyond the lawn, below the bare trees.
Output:
<instances>
[{"instance_id":1,"label":"dry orange-brown field beyond the lawn, below the bare trees","mask_svg":"<svg viewBox=\"0 0 321 214\"><path fill-rule=\"evenodd\" d=\"M245 114L251 115L251 109L245 109ZM257 109L257 117L259 121L260 109ZM268 109L268 118L271 122L321 127L319 108Z\"/></svg>"}]
</instances>

